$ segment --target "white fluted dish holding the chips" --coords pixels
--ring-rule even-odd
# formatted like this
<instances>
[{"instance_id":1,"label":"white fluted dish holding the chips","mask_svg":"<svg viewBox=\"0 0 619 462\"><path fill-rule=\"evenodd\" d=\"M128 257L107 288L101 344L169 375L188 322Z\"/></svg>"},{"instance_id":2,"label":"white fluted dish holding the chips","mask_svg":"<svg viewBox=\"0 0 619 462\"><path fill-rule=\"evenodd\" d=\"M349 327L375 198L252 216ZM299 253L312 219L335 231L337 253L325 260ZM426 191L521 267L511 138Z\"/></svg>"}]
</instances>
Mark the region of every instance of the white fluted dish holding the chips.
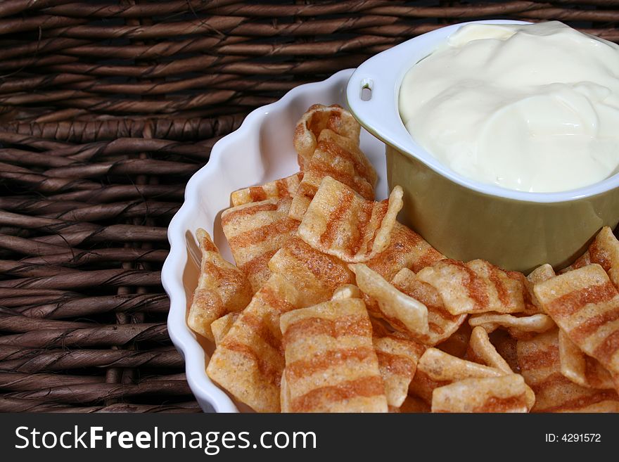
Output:
<instances>
[{"instance_id":1,"label":"white fluted dish holding the chips","mask_svg":"<svg viewBox=\"0 0 619 462\"><path fill-rule=\"evenodd\" d=\"M208 378L205 367L213 345L205 340L198 342L196 334L187 327L187 309L198 284L200 262L194 233L198 228L206 229L222 255L234 261L219 219L222 210L230 206L230 193L297 172L295 124L312 104L346 106L345 90L352 71L343 70L323 82L298 86L276 103L250 113L241 127L213 146L208 164L187 183L185 202L170 222L170 255L161 273L163 287L170 297L167 328L185 359L189 387L204 411L236 412L248 408L234 402ZM378 173L377 198L384 199L388 195L385 146L365 130L360 140L362 150Z\"/></svg>"}]
</instances>

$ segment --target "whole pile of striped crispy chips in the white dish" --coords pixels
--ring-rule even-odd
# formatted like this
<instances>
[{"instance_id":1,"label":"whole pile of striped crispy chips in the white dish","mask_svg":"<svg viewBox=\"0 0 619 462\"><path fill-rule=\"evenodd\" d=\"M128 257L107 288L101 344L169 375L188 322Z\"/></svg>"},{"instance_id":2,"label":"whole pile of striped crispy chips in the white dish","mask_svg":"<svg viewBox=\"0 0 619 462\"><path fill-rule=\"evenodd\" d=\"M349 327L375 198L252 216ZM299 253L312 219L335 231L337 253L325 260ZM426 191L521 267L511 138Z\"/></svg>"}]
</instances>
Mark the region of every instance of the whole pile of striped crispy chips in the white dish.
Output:
<instances>
[{"instance_id":1,"label":"whole pile of striped crispy chips in the white dish","mask_svg":"<svg viewBox=\"0 0 619 462\"><path fill-rule=\"evenodd\" d=\"M313 105L300 172L231 195L236 266L198 230L188 323L208 376L260 412L619 411L619 241L528 276L459 262L374 201L359 124Z\"/></svg>"}]
</instances>

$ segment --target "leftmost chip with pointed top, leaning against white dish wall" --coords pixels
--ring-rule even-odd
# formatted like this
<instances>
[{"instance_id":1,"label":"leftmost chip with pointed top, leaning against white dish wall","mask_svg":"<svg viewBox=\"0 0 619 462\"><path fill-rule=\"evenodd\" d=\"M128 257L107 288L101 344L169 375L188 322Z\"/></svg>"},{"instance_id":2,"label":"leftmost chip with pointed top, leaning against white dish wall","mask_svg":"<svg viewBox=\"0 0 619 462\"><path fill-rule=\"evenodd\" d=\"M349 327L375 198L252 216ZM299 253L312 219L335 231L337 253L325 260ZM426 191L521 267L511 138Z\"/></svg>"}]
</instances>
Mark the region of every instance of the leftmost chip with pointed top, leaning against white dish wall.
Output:
<instances>
[{"instance_id":1,"label":"leftmost chip with pointed top, leaning against white dish wall","mask_svg":"<svg viewBox=\"0 0 619 462\"><path fill-rule=\"evenodd\" d=\"M196 238L202 262L187 324L192 331L213 340L211 323L226 313L245 308L251 300L252 290L245 274L219 255L205 230L198 229Z\"/></svg>"}]
</instances>

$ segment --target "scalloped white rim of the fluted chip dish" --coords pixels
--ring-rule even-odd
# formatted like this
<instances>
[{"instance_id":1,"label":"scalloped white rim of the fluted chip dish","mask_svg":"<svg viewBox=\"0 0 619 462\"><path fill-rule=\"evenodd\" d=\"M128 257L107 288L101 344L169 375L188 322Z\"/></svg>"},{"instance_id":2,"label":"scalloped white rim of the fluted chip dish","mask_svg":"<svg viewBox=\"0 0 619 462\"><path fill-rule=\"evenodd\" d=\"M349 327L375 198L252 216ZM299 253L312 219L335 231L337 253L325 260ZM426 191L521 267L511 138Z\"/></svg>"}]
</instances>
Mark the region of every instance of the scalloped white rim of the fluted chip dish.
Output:
<instances>
[{"instance_id":1,"label":"scalloped white rim of the fluted chip dish","mask_svg":"<svg viewBox=\"0 0 619 462\"><path fill-rule=\"evenodd\" d=\"M185 372L187 382L198 403L203 407L203 402L208 402L217 412L238 412L238 408L229 395L215 384L205 371L206 354L186 323L187 297L183 284L183 274L188 259L186 245L186 222L189 215L198 205L200 197L198 184L205 181L212 174L216 174L222 167L224 153L238 136L244 136L249 131L260 126L260 123L269 112L285 107L298 95L328 87L341 81L345 84L347 78L352 75L353 69L340 70L330 77L319 82L312 82L295 86L286 92L274 103L261 106L250 112L238 129L219 139L212 147L208 162L192 175L186 184L184 202L174 217L170 220L167 228L167 239L170 243L170 253L167 255L161 270L161 283L170 298L170 311L167 316L167 330L174 346L179 350L185 360Z\"/></svg>"}]
</instances>

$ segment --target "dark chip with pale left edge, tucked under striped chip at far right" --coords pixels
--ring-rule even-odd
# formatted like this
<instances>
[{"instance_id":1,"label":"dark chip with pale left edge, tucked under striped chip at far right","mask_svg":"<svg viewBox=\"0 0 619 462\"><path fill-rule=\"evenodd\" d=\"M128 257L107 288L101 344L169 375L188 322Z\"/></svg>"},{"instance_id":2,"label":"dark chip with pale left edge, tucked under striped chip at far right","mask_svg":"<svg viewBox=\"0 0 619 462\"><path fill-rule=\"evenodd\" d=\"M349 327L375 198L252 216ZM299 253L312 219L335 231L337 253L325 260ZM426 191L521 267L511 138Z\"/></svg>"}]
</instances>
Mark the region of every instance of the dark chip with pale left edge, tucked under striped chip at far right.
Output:
<instances>
[{"instance_id":1,"label":"dark chip with pale left edge, tucked under striped chip at far right","mask_svg":"<svg viewBox=\"0 0 619 462\"><path fill-rule=\"evenodd\" d=\"M598 390L615 389L611 373L599 361L583 353L563 331L559 331L559 360L561 373L573 383Z\"/></svg>"}]
</instances>

